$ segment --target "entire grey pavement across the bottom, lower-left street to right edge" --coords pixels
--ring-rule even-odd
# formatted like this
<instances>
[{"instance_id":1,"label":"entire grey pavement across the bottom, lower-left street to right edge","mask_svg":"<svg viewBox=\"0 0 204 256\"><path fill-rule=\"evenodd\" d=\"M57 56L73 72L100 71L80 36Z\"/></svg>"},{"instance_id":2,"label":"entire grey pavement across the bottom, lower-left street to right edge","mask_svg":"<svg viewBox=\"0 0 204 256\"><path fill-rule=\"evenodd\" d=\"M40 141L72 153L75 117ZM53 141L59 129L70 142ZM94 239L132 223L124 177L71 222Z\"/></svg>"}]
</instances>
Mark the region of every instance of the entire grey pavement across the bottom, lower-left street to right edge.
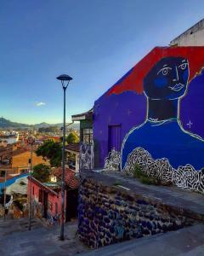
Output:
<instances>
[{"instance_id":1,"label":"entire grey pavement across the bottom, lower-left street to right edge","mask_svg":"<svg viewBox=\"0 0 204 256\"><path fill-rule=\"evenodd\" d=\"M59 227L45 228L33 220L32 230L26 231L26 220L12 220L13 226L3 233L0 221L1 256L204 256L204 225L196 224L177 231L124 241L90 251L77 239L77 221L65 224L65 241L59 241ZM20 225L21 230L14 230Z\"/></svg>"}]
</instances>

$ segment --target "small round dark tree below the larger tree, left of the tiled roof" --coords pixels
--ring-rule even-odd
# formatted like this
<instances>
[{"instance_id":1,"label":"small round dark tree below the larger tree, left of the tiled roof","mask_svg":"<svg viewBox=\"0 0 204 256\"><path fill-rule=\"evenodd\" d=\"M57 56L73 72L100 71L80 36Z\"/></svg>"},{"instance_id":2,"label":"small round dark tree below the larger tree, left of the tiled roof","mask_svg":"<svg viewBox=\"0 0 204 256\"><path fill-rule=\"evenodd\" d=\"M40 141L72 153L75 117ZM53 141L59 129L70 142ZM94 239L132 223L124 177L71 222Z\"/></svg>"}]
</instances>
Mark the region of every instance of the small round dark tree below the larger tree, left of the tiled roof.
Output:
<instances>
[{"instance_id":1,"label":"small round dark tree below the larger tree, left of the tiled roof","mask_svg":"<svg viewBox=\"0 0 204 256\"><path fill-rule=\"evenodd\" d=\"M32 176L35 177L38 181L46 183L49 181L50 168L44 164L39 164L33 167Z\"/></svg>"}]
</instances>

